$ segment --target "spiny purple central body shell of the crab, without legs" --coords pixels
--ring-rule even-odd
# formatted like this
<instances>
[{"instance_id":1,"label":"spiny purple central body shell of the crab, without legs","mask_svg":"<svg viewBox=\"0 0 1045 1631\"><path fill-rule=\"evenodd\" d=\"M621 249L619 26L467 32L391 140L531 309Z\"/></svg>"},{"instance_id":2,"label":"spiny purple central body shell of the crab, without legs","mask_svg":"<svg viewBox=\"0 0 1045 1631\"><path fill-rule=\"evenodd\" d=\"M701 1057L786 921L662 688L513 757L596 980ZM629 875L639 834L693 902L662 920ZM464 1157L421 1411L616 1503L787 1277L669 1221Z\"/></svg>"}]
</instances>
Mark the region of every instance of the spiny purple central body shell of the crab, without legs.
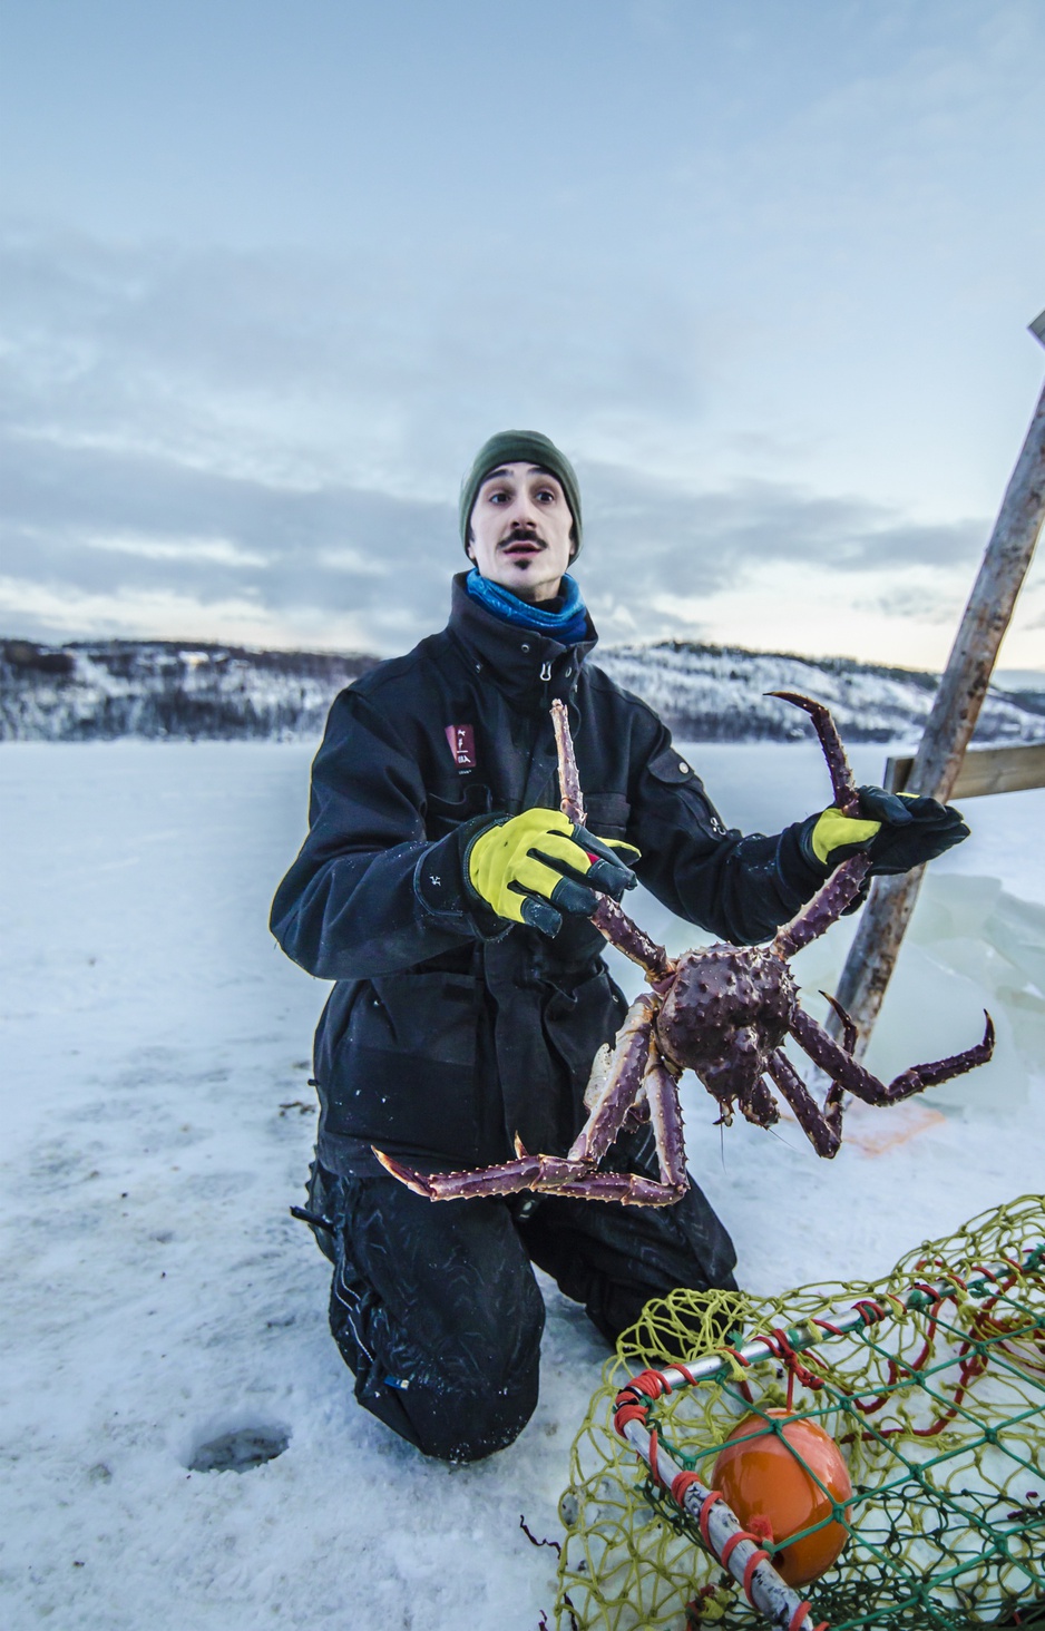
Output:
<instances>
[{"instance_id":1,"label":"spiny purple central body shell of the crab, without legs","mask_svg":"<svg viewBox=\"0 0 1045 1631\"><path fill-rule=\"evenodd\" d=\"M769 948L686 951L655 1019L657 1045L725 1104L756 1090L797 1003L787 964Z\"/></svg>"}]
</instances>

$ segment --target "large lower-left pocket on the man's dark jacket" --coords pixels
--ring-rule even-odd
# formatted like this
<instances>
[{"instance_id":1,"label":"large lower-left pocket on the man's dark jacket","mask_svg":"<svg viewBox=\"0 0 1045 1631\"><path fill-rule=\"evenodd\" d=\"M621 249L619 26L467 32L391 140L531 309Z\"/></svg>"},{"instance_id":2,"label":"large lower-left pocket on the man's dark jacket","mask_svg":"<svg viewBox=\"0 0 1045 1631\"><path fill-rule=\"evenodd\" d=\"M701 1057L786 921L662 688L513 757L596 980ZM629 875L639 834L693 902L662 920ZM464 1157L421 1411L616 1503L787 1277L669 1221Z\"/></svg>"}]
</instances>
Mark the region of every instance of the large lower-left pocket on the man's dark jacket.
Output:
<instances>
[{"instance_id":1,"label":"large lower-left pocket on the man's dark jacket","mask_svg":"<svg viewBox=\"0 0 1045 1631\"><path fill-rule=\"evenodd\" d=\"M331 1132L470 1161L478 1150L479 982L406 972L360 982L331 1062Z\"/></svg>"}]
</instances>

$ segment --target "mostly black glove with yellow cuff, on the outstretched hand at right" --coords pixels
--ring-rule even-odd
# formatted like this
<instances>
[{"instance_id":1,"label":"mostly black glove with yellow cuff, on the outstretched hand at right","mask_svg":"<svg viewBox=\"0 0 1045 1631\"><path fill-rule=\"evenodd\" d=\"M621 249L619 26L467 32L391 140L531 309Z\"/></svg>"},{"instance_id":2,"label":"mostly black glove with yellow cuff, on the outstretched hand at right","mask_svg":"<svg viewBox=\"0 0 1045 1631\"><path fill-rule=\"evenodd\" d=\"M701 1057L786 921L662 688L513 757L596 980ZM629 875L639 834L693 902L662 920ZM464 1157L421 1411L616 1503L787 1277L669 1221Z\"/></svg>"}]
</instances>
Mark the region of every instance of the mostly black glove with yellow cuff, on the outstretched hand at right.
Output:
<instances>
[{"instance_id":1,"label":"mostly black glove with yellow cuff, on the outstretched hand at right","mask_svg":"<svg viewBox=\"0 0 1045 1631\"><path fill-rule=\"evenodd\" d=\"M823 811L822 816L810 817L807 833L802 835L802 850L807 858L815 856L822 866L833 871L853 855L871 858L869 877L890 877L898 873L910 873L913 866L923 866L936 860L944 850L968 838L968 827L962 820L962 812L937 799L911 798L905 793L887 793L885 788L859 788L859 824L864 832L853 842L844 842L846 829L856 825L841 811ZM867 825L877 822L877 832L867 832ZM835 843L838 837L843 842Z\"/></svg>"}]
</instances>

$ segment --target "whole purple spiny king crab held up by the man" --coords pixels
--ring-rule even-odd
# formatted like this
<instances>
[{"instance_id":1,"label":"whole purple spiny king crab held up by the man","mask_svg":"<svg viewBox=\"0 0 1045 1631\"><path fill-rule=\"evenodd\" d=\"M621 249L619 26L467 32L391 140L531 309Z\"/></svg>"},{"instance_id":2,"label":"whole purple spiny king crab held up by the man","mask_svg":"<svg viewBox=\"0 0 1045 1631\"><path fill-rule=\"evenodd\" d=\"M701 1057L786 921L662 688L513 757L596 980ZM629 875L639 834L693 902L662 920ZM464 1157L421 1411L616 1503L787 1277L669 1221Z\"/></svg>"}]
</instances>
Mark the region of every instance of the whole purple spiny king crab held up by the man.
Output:
<instances>
[{"instance_id":1,"label":"whole purple spiny king crab held up by the man","mask_svg":"<svg viewBox=\"0 0 1045 1631\"><path fill-rule=\"evenodd\" d=\"M812 718L827 758L835 804L859 814L853 771L828 709L794 692L774 696L804 708ZM559 754L562 812L584 825L584 798L577 775L567 711L553 703ZM844 1094L866 1104L897 1104L924 1088L960 1076L986 1063L994 1047L994 1028L986 1014L983 1041L963 1054L913 1065L888 1085L872 1076L854 1057L856 1026L828 997L841 1023L843 1041L799 1008L797 987L787 957L817 939L858 895L871 861L856 855L830 876L823 889L771 946L709 946L668 957L615 900L602 897L592 922L628 957L646 970L650 992L628 1010L613 1045L595 1055L584 1094L589 1119L567 1155L530 1155L518 1137L515 1160L471 1173L416 1173L375 1150L393 1178L429 1200L463 1200L507 1196L523 1189L551 1191L582 1200L618 1200L624 1205L664 1207L686 1192L685 1145L678 1078L690 1068L721 1107L729 1125L740 1111L756 1127L771 1127L779 1111L769 1081L791 1106L799 1125L820 1156L828 1160L841 1143ZM827 993L823 993L827 995ZM830 1080L823 1106L817 1104L781 1044L792 1036ZM766 1081L768 1078L768 1081ZM657 1145L660 1179L637 1173L600 1173L598 1163L624 1124L649 1119Z\"/></svg>"}]
</instances>

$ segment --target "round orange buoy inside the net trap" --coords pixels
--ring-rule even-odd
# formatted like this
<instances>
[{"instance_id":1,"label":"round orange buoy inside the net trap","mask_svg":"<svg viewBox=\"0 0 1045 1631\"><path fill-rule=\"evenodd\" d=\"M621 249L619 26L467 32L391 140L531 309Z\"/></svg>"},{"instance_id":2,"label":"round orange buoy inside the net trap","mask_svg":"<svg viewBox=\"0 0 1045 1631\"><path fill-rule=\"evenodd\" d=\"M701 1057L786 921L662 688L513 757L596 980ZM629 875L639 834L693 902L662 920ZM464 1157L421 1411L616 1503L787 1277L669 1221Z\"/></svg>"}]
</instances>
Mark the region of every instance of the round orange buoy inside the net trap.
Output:
<instances>
[{"instance_id":1,"label":"round orange buoy inside the net trap","mask_svg":"<svg viewBox=\"0 0 1045 1631\"><path fill-rule=\"evenodd\" d=\"M783 1417L784 1425L773 1429L761 1416L745 1416L719 1450L712 1483L745 1530L783 1548L773 1567L787 1585L807 1585L830 1569L849 1538L846 1527L831 1518L831 1501L849 1501L853 1484L838 1445L823 1427L781 1409L765 1414ZM787 1545L791 1535L814 1523L823 1528Z\"/></svg>"}]
</instances>

